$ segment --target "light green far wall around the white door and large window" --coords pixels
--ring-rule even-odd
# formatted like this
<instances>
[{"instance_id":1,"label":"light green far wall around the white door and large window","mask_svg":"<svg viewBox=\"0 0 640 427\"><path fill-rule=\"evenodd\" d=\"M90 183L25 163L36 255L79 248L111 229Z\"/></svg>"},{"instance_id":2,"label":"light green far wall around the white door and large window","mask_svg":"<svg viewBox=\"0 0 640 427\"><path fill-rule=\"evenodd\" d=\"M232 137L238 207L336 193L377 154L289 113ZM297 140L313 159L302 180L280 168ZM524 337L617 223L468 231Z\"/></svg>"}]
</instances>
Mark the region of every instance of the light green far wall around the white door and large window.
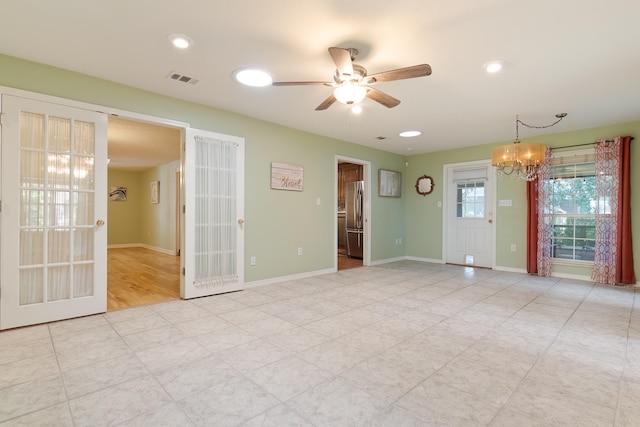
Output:
<instances>
[{"instance_id":1,"label":"light green far wall around the white door and large window","mask_svg":"<svg viewBox=\"0 0 640 427\"><path fill-rule=\"evenodd\" d=\"M570 117L567 119L570 120ZM585 144L598 139L611 139L620 135L640 135L640 121L621 123L616 125L596 127L573 132L536 137L536 142L544 143L552 148L567 145ZM524 138L523 142L533 142L533 138ZM513 141L485 144L463 149L428 153L409 158L407 179L404 190L410 196L406 199L407 256L427 259L442 259L442 208L437 207L438 201L443 201L442 183L443 166L447 163L459 163L491 158L491 149L495 146L510 144ZM640 150L637 141L632 143L631 150L631 199L632 199L632 228L636 234L633 249L635 270L640 276L640 185L635 185L640 178ZM582 147L588 148L588 147ZM436 186L428 196L416 193L413 186L416 179L422 175L433 177ZM510 199L512 206L496 206L496 266L497 268L525 270L526 269L526 188L524 181L497 180L496 204L498 200ZM515 243L518 250L511 252L511 244ZM590 276L590 269L554 265L553 271L559 274Z\"/></svg>"}]
</instances>

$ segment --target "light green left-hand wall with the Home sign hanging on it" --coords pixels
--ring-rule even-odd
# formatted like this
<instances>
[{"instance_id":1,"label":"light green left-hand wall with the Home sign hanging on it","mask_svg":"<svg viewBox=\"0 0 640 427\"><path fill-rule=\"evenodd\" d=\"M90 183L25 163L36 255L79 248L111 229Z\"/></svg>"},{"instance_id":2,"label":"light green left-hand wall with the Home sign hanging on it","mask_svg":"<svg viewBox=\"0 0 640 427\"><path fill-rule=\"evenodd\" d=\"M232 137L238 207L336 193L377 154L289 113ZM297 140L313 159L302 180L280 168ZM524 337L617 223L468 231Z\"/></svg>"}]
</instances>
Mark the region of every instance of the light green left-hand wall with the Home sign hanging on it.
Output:
<instances>
[{"instance_id":1,"label":"light green left-hand wall with the Home sign hanging on it","mask_svg":"<svg viewBox=\"0 0 640 427\"><path fill-rule=\"evenodd\" d=\"M244 138L247 282L335 266L337 155L371 162L372 189L378 188L379 168L404 170L403 156L43 64L0 55L0 70L0 86L177 120L196 129ZM271 190L273 161L303 166L304 191ZM372 195L372 262L404 256L404 246L389 244L388 231L404 233L403 201L404 196L389 200ZM303 256L297 255L298 247L303 248ZM249 265L251 256L256 257L257 265Z\"/></svg>"}]
</instances>

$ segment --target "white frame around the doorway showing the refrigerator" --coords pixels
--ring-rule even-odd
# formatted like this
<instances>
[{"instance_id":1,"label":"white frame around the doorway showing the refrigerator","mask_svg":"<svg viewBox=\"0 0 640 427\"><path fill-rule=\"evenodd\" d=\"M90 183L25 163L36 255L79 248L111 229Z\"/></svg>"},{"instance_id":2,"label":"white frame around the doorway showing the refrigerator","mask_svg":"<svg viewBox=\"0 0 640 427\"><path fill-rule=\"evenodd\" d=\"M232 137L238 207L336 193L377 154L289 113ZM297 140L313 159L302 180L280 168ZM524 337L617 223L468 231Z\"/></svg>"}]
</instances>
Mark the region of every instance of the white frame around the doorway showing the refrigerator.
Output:
<instances>
[{"instance_id":1,"label":"white frame around the doorway showing the refrigerator","mask_svg":"<svg viewBox=\"0 0 640 427\"><path fill-rule=\"evenodd\" d=\"M333 170L333 268L338 270L338 162L362 165L362 180L364 181L364 236L362 246L362 265L371 265L371 162L353 157L336 155Z\"/></svg>"}]
</instances>

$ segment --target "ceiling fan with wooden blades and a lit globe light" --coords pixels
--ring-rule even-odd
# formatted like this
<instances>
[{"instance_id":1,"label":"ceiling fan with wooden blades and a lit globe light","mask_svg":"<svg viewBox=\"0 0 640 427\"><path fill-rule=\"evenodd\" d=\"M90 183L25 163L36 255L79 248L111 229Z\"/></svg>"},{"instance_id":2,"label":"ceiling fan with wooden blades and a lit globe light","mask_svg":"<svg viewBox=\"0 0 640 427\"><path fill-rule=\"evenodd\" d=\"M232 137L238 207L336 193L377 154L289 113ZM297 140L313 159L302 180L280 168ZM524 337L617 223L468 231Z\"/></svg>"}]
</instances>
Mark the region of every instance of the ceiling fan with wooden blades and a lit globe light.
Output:
<instances>
[{"instance_id":1,"label":"ceiling fan with wooden blades and a lit globe light","mask_svg":"<svg viewBox=\"0 0 640 427\"><path fill-rule=\"evenodd\" d=\"M362 101L365 97L372 99L387 108L393 108L400 104L400 100L370 87L376 83L390 82L393 80L411 79L413 77L424 77L431 74L431 67L428 64L414 65L412 67L400 68L397 70L384 71L382 73L367 75L367 69L353 61L358 56L358 49L341 47L330 47L329 54L336 64L333 73L333 82L273 82L273 86L310 86L325 85L333 87L333 93L325 99L318 107L317 111L326 110L334 102L351 105Z\"/></svg>"}]
</instances>

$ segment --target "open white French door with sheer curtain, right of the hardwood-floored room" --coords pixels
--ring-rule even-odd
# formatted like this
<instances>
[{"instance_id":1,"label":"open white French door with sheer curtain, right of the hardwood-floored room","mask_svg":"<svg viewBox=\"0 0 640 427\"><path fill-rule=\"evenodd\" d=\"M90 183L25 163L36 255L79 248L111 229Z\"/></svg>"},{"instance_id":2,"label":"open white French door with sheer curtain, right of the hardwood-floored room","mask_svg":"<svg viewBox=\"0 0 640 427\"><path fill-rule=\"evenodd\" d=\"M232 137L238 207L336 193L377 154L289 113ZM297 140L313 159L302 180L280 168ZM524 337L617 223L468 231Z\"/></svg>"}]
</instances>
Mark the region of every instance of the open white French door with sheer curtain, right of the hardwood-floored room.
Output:
<instances>
[{"instance_id":1,"label":"open white French door with sheer curtain, right of the hardwood-floored room","mask_svg":"<svg viewBox=\"0 0 640 427\"><path fill-rule=\"evenodd\" d=\"M180 295L196 298L244 285L244 139L185 131L184 254Z\"/></svg>"}]
</instances>

